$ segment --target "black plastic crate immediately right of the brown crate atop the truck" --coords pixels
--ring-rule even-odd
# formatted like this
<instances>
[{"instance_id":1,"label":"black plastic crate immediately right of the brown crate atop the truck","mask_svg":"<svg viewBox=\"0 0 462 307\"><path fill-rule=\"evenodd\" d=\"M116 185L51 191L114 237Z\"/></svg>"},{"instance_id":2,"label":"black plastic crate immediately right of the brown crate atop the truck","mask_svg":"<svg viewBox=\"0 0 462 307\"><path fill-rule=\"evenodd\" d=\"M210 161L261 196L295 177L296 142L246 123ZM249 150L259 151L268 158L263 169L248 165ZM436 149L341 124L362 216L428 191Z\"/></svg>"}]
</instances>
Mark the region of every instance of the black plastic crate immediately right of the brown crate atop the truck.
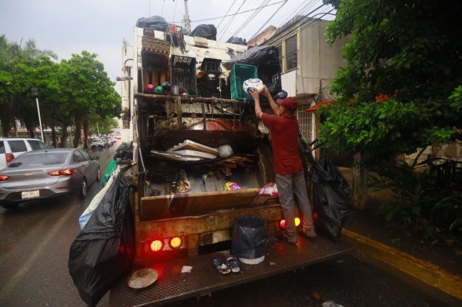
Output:
<instances>
[{"instance_id":1,"label":"black plastic crate immediately right of the brown crate atop the truck","mask_svg":"<svg viewBox=\"0 0 462 307\"><path fill-rule=\"evenodd\" d=\"M195 76L195 57L182 57L171 55L171 85L184 88L188 94L195 96L198 93L197 79Z\"/></svg>"}]
</instances>

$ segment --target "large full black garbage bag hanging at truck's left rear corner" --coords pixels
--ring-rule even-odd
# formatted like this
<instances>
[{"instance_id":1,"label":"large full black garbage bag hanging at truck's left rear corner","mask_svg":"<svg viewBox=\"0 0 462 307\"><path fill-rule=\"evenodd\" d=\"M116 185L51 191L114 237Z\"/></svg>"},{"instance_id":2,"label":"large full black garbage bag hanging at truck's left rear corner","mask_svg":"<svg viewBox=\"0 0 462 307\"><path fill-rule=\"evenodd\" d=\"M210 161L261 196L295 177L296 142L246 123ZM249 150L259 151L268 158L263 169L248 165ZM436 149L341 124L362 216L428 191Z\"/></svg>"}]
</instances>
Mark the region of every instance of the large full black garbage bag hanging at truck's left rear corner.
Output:
<instances>
[{"instance_id":1,"label":"large full black garbage bag hanging at truck's left rear corner","mask_svg":"<svg viewBox=\"0 0 462 307\"><path fill-rule=\"evenodd\" d=\"M80 297L96 306L131 267L134 252L131 184L119 173L70 246L69 274Z\"/></svg>"}]
</instances>

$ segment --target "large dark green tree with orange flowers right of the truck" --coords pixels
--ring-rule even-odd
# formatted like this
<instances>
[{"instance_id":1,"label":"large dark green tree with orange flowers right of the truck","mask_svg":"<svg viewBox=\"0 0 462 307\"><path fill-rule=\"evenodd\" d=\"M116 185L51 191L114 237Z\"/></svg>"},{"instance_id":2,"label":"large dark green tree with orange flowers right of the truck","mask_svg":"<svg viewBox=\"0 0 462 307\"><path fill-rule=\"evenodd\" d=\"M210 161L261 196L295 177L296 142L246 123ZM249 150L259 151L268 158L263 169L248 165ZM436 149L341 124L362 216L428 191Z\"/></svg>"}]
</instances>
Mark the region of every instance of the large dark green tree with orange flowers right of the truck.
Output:
<instances>
[{"instance_id":1,"label":"large dark green tree with orange flowers right of the truck","mask_svg":"<svg viewBox=\"0 0 462 307\"><path fill-rule=\"evenodd\" d=\"M353 202L365 206L367 165L453 140L460 130L460 1L343 0L328 42L351 35L335 76L338 102L321 108L321 140L355 154Z\"/></svg>"}]
</instances>

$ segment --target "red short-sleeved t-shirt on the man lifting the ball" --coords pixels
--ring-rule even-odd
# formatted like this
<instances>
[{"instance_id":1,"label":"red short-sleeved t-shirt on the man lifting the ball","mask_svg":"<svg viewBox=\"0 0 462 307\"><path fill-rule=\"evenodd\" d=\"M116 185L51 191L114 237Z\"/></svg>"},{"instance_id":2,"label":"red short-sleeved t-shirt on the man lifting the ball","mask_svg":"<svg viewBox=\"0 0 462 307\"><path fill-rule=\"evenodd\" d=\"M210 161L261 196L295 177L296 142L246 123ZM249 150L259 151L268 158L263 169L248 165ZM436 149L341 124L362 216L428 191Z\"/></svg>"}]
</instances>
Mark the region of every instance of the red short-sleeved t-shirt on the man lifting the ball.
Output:
<instances>
[{"instance_id":1,"label":"red short-sleeved t-shirt on the man lifting the ball","mask_svg":"<svg viewBox=\"0 0 462 307\"><path fill-rule=\"evenodd\" d=\"M299 155L299 121L295 116L262 114L264 125L271 131L273 170L289 175L303 171Z\"/></svg>"}]
</instances>

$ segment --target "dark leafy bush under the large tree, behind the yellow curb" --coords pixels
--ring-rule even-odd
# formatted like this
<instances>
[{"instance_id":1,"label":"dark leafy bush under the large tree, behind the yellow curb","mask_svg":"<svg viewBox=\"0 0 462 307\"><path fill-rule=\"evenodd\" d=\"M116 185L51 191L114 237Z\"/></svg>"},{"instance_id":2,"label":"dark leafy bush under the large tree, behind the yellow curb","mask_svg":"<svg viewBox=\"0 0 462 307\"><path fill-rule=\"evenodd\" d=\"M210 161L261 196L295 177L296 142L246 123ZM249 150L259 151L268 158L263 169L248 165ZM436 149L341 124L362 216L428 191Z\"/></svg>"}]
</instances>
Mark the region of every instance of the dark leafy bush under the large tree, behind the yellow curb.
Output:
<instances>
[{"instance_id":1,"label":"dark leafy bush under the large tree, behind the yellow curb","mask_svg":"<svg viewBox=\"0 0 462 307\"><path fill-rule=\"evenodd\" d=\"M397 167L379 167L378 176L370 177L375 190L390 189L393 201L387 201L377 214L401 221L412 233L422 233L427 240L462 242L461 194L440 186L436 181L433 160L409 165L397 159Z\"/></svg>"}]
</instances>

